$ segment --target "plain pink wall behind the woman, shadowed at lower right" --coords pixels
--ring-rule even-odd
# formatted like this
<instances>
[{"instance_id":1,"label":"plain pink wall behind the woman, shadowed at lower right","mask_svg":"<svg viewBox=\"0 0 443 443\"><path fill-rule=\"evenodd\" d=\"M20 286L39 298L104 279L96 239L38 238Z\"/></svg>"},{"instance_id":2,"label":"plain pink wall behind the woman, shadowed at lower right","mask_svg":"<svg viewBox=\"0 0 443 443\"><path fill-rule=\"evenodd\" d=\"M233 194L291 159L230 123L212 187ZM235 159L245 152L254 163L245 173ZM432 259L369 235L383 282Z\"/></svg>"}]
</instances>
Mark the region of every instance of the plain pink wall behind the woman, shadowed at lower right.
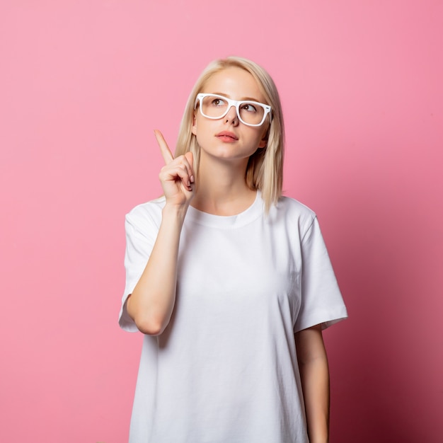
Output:
<instances>
[{"instance_id":1,"label":"plain pink wall behind the woman, shadowed at lower right","mask_svg":"<svg viewBox=\"0 0 443 443\"><path fill-rule=\"evenodd\" d=\"M238 54L280 88L284 188L350 313L325 333L331 442L441 442L442 27L431 0L2 1L0 441L127 441L124 216L161 193L154 128L173 146Z\"/></svg>"}]
</instances>

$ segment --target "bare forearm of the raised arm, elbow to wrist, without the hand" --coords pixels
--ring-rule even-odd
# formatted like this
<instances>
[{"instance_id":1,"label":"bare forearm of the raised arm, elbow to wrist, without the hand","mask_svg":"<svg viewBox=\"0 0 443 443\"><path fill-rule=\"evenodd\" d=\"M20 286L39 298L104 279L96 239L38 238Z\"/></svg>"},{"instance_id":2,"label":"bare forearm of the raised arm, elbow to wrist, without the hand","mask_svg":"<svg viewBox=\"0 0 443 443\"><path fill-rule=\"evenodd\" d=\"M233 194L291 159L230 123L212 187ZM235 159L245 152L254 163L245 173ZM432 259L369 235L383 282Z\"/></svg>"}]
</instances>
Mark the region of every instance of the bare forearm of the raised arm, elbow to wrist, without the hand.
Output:
<instances>
[{"instance_id":1,"label":"bare forearm of the raised arm, elbow to wrist, without the hand","mask_svg":"<svg viewBox=\"0 0 443 443\"><path fill-rule=\"evenodd\" d=\"M127 312L142 333L158 335L168 325L176 301L180 232L187 207L166 205L154 248L127 300Z\"/></svg>"}]
</instances>

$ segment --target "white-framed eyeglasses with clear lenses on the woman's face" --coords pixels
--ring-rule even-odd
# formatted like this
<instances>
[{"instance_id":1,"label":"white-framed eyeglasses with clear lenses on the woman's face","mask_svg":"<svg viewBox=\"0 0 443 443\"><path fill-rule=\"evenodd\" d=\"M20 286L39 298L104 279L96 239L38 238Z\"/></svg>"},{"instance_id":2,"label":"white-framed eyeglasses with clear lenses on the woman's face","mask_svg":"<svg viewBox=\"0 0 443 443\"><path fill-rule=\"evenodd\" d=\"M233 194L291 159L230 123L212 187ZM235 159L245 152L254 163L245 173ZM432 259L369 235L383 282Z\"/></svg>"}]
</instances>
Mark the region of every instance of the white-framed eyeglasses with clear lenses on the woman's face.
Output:
<instances>
[{"instance_id":1,"label":"white-framed eyeglasses with clear lenses on the woman's face","mask_svg":"<svg viewBox=\"0 0 443 443\"><path fill-rule=\"evenodd\" d=\"M266 116L271 117L270 105L258 103L257 101L249 100L231 100L224 96L217 96L216 94L197 94L195 99L194 109L200 101L200 113L203 117L217 120L224 117L232 106L236 108L238 120L248 126L263 125Z\"/></svg>"}]
</instances>

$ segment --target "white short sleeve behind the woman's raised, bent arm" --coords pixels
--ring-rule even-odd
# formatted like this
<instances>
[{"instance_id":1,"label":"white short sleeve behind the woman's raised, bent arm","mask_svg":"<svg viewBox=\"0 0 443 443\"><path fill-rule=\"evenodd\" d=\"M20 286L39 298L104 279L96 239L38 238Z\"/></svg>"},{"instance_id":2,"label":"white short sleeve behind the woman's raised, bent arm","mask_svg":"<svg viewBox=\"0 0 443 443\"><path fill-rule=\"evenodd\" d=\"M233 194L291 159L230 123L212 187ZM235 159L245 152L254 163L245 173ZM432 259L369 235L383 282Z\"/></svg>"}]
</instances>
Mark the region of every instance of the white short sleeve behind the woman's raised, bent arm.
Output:
<instances>
[{"instance_id":1,"label":"white short sleeve behind the woman's raised, bent arm","mask_svg":"<svg viewBox=\"0 0 443 443\"><path fill-rule=\"evenodd\" d=\"M149 214L146 211L142 211L142 209L138 207L133 209L130 214L127 214L125 219L125 231L126 283L118 322L122 329L129 332L136 332L138 329L127 313L126 301L127 297L132 294L134 287L142 276L146 263L148 263L149 256L151 255L159 231L159 226L151 217L149 217Z\"/></svg>"}]
</instances>

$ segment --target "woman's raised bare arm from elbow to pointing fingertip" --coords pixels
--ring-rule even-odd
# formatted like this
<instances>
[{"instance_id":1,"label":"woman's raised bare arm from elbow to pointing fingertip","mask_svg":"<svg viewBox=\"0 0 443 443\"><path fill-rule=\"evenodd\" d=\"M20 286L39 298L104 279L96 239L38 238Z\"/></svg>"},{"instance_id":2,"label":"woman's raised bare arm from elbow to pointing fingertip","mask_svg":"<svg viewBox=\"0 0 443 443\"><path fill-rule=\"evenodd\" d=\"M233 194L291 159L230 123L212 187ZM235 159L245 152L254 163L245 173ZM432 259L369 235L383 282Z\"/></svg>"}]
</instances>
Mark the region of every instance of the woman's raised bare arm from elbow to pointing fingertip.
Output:
<instances>
[{"instance_id":1,"label":"woman's raised bare arm from elbow to pointing fingertip","mask_svg":"<svg viewBox=\"0 0 443 443\"><path fill-rule=\"evenodd\" d=\"M166 163L159 174L166 204L154 248L126 305L137 328L149 335L161 334L171 319L176 301L180 233L194 195L192 153L174 159L159 131L156 138Z\"/></svg>"}]
</instances>

